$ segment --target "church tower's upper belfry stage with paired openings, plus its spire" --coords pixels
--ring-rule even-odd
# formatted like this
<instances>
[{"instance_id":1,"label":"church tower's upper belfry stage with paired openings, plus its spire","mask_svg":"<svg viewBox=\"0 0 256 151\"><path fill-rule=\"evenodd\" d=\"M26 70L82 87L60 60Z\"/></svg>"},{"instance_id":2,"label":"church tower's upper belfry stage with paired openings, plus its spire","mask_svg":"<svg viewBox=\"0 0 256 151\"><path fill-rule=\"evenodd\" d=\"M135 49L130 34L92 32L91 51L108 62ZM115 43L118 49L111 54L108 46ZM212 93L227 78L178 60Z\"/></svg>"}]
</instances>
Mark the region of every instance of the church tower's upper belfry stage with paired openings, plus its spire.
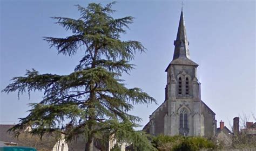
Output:
<instances>
[{"instance_id":1,"label":"church tower's upper belfry stage with paired openings, plus its spire","mask_svg":"<svg viewBox=\"0 0 256 151\"><path fill-rule=\"evenodd\" d=\"M194 85L199 84L196 75L198 64L190 59L188 45L183 11L181 11L177 38L174 40L173 59L165 70L166 99L200 99L199 89Z\"/></svg>"}]
</instances>

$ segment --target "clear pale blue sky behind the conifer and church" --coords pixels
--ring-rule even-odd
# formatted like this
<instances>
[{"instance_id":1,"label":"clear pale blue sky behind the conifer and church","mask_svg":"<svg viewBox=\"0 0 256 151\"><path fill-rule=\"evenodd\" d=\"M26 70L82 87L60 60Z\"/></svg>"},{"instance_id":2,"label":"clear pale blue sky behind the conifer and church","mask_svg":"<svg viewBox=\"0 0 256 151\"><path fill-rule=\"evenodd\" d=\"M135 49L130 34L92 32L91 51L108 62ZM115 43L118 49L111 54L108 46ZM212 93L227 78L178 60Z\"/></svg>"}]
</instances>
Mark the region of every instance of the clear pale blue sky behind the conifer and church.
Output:
<instances>
[{"instance_id":1,"label":"clear pale blue sky behind the conifer and church","mask_svg":"<svg viewBox=\"0 0 256 151\"><path fill-rule=\"evenodd\" d=\"M43 37L66 37L50 17L78 18L75 4L93 1L1 1L1 90L26 69L40 73L69 74L82 56L57 55ZM94 1L99 2L99 1ZM107 4L110 1L103 1ZM147 52L131 63L136 69L123 75L127 87L139 87L157 99L158 105L136 105L133 114L149 115L164 102L167 65L173 56L181 1L118 1L114 17L133 16L134 23L122 39L138 40ZM201 98L220 120L253 112L255 100L255 1L184 1L184 17L191 59L199 64ZM25 117L28 103L39 102L42 94L1 93L0 124L14 124ZM252 119L252 118L251 118Z\"/></svg>"}]
</instances>

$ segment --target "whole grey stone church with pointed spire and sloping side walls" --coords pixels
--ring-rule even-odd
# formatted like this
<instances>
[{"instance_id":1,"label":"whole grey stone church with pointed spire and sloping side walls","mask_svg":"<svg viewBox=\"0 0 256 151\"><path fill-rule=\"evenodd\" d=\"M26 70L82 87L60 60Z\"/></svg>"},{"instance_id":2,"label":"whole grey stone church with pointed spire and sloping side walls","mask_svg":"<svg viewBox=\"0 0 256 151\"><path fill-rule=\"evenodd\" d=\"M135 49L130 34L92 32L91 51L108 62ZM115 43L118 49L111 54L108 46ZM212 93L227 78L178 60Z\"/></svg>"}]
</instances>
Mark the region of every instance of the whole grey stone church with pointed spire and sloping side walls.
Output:
<instances>
[{"instance_id":1,"label":"whole grey stone church with pointed spire and sloping side walls","mask_svg":"<svg viewBox=\"0 0 256 151\"><path fill-rule=\"evenodd\" d=\"M181 10L174 54L166 68L165 100L143 128L152 135L207 136L216 134L215 113L200 96L198 64L190 59L189 42Z\"/></svg>"}]
</instances>

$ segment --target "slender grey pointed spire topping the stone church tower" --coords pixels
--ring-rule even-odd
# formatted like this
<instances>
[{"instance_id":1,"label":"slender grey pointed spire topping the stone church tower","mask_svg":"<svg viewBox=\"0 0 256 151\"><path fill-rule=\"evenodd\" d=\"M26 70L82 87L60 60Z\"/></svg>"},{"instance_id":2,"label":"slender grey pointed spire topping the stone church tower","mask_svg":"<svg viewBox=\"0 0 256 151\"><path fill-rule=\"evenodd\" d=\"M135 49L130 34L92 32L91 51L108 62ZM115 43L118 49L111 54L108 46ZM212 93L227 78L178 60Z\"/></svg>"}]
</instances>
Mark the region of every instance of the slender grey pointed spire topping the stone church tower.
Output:
<instances>
[{"instance_id":1,"label":"slender grey pointed spire topping the stone church tower","mask_svg":"<svg viewBox=\"0 0 256 151\"><path fill-rule=\"evenodd\" d=\"M184 58L184 57L186 57L187 59L190 59L190 52L188 50L188 45L189 45L189 42L187 41L183 10L181 10L177 38L174 41L175 48L174 48L173 60L178 58Z\"/></svg>"}]
</instances>

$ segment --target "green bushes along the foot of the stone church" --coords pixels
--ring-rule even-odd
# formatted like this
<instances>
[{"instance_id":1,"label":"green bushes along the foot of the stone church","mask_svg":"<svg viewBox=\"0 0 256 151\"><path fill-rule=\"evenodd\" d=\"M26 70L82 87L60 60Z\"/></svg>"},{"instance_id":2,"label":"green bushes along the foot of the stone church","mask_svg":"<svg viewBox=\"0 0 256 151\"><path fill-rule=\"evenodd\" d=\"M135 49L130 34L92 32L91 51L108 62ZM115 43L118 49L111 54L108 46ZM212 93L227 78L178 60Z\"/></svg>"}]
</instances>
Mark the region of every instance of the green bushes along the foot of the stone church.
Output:
<instances>
[{"instance_id":1,"label":"green bushes along the foot of the stone church","mask_svg":"<svg viewBox=\"0 0 256 151\"><path fill-rule=\"evenodd\" d=\"M185 136L164 136L159 135L152 140L153 146L158 150L165 151L196 151L200 149L214 149L217 146L206 138L202 137L185 137Z\"/></svg>"}]
</instances>

